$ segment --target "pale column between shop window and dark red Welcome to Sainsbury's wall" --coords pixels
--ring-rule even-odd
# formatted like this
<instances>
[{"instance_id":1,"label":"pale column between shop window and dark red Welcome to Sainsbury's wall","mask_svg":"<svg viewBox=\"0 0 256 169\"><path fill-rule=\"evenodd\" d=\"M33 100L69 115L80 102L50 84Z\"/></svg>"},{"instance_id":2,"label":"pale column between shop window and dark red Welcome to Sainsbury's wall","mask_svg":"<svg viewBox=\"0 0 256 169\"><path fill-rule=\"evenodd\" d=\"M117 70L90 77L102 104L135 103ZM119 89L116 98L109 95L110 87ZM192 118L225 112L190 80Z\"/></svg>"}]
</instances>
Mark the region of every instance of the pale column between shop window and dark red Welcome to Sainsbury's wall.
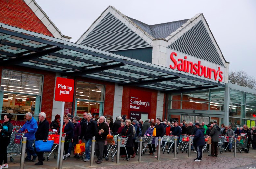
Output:
<instances>
[{"instance_id":1,"label":"pale column between shop window and dark red Welcome to Sainsbury's wall","mask_svg":"<svg viewBox=\"0 0 256 169\"><path fill-rule=\"evenodd\" d=\"M118 84L115 84L114 106L113 106L114 121L116 117L121 116L122 100L123 100L123 86L119 86Z\"/></svg>"}]
</instances>

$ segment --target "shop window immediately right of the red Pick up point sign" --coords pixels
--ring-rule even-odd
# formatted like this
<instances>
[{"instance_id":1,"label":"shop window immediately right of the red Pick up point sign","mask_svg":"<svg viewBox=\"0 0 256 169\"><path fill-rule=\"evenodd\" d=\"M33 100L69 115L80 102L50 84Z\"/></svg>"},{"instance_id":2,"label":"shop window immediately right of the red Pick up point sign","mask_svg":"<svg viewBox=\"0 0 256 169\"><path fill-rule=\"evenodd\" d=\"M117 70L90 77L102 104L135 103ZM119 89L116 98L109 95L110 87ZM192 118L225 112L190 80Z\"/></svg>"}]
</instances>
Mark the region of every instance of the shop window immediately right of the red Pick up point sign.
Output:
<instances>
[{"instance_id":1,"label":"shop window immediately right of the red Pick up point sign","mask_svg":"<svg viewBox=\"0 0 256 169\"><path fill-rule=\"evenodd\" d=\"M80 118L84 112L94 117L103 115L104 85L77 82L75 113Z\"/></svg>"}]
</instances>

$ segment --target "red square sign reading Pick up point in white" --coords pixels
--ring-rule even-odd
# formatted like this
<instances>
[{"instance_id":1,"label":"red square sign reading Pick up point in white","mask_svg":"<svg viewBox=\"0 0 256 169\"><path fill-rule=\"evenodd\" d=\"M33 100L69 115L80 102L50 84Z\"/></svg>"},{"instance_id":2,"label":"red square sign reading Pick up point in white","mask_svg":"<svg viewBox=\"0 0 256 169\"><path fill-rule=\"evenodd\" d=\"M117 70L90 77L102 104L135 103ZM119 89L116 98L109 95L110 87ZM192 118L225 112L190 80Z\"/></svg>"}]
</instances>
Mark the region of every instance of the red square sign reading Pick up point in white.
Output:
<instances>
[{"instance_id":1,"label":"red square sign reading Pick up point in white","mask_svg":"<svg viewBox=\"0 0 256 169\"><path fill-rule=\"evenodd\" d=\"M73 102L74 80L57 77L55 86L55 101Z\"/></svg>"}]
</instances>

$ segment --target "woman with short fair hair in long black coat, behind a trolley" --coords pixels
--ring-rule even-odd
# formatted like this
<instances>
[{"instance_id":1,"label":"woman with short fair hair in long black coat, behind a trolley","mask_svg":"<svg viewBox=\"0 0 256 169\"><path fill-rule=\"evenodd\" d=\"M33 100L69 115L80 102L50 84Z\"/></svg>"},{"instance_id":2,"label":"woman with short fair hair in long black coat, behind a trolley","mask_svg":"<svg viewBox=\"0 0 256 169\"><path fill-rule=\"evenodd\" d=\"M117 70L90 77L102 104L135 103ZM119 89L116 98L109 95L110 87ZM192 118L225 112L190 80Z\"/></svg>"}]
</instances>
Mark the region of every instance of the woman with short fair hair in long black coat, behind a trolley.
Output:
<instances>
[{"instance_id":1,"label":"woman with short fair hair in long black coat, behind a trolley","mask_svg":"<svg viewBox=\"0 0 256 169\"><path fill-rule=\"evenodd\" d=\"M124 129L123 129L123 131L122 131L122 133L120 135L128 137L128 140L127 140L126 146L125 146L128 157L126 157L124 159L124 160L127 160L128 158L131 158L131 155L134 154L133 146L132 146L133 126L131 125L131 121L130 120L126 120L125 124L126 125L125 125L125 127L124 127ZM121 152L122 155L126 155L125 149L121 149L121 151L122 151Z\"/></svg>"}]
</instances>

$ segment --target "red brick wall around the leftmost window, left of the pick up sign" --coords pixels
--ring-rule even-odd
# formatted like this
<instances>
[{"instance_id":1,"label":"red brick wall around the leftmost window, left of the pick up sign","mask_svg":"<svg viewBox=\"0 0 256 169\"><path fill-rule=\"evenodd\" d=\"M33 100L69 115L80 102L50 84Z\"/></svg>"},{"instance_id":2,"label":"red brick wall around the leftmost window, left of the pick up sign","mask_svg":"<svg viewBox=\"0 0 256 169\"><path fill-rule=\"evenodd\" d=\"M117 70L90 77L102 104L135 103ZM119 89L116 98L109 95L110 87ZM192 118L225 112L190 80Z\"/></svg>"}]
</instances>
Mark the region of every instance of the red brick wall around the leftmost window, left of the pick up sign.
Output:
<instances>
[{"instance_id":1,"label":"red brick wall around the leftmost window, left of the pick up sign","mask_svg":"<svg viewBox=\"0 0 256 169\"><path fill-rule=\"evenodd\" d=\"M0 83L3 69L44 75L43 93L41 97L41 112L45 112L46 118L51 119L55 85L55 72L42 71L38 69L29 69L22 66L0 66Z\"/></svg>"}]
</instances>

